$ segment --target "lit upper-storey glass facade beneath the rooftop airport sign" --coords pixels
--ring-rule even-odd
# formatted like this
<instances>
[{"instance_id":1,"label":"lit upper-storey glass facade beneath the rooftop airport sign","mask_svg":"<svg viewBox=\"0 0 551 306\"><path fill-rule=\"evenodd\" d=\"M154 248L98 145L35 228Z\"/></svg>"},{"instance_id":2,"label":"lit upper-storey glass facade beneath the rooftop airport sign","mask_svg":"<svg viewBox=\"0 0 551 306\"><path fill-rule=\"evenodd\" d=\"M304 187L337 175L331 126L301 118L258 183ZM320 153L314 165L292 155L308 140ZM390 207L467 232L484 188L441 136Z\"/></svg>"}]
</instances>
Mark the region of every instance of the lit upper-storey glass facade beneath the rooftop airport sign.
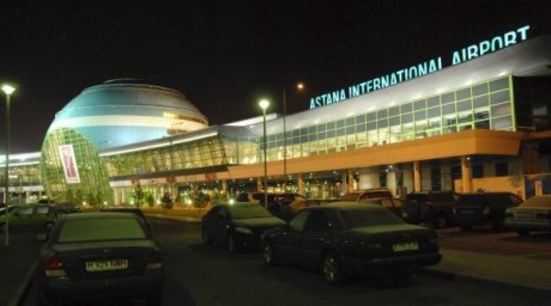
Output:
<instances>
[{"instance_id":1,"label":"lit upper-storey glass facade beneath the rooftop airport sign","mask_svg":"<svg viewBox=\"0 0 551 306\"><path fill-rule=\"evenodd\" d=\"M515 131L512 76L287 131L287 158L308 157L464 131ZM262 138L238 138L231 160L262 161ZM283 160L283 133L267 136L267 160ZM234 158L235 157L235 158ZM260 157L260 158L259 158Z\"/></svg>"}]
</instances>

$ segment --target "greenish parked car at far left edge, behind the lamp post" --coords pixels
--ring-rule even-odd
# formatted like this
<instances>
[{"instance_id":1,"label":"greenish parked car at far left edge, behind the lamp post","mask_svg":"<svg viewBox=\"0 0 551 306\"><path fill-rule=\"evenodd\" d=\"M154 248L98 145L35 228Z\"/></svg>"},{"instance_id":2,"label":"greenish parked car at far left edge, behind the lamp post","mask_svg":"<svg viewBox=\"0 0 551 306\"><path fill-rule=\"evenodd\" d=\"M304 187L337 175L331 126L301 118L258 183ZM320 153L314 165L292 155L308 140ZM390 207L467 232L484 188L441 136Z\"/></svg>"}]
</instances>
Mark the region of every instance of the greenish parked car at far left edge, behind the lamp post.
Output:
<instances>
[{"instance_id":1,"label":"greenish parked car at far left edge, behind the lamp post","mask_svg":"<svg viewBox=\"0 0 551 306\"><path fill-rule=\"evenodd\" d=\"M55 208L44 204L14 204L8 208L10 228L36 228L49 230L57 220ZM0 212L0 224L6 223L6 210Z\"/></svg>"}]
</instances>

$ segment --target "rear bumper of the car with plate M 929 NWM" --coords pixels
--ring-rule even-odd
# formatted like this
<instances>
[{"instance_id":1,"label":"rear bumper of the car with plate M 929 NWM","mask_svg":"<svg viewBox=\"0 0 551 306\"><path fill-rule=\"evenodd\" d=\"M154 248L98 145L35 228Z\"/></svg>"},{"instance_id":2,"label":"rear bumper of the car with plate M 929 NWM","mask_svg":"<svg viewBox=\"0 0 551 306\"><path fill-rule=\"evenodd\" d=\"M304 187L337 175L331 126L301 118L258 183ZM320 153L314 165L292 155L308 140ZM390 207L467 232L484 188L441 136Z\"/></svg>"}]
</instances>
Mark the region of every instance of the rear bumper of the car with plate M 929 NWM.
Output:
<instances>
[{"instance_id":1,"label":"rear bumper of the car with plate M 929 NWM","mask_svg":"<svg viewBox=\"0 0 551 306\"><path fill-rule=\"evenodd\" d=\"M63 305L103 298L158 298L162 296L163 283L161 271L120 278L44 278L41 291L53 305Z\"/></svg>"}]
</instances>

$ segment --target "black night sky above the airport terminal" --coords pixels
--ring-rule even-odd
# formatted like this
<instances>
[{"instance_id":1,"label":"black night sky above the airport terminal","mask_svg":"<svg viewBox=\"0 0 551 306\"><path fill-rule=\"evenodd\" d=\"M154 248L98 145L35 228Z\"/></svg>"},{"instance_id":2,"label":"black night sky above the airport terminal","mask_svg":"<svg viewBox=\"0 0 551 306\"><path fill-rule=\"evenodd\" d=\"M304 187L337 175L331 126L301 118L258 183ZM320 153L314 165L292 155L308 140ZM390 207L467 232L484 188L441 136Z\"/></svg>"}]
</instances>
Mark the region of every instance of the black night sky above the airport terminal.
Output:
<instances>
[{"instance_id":1,"label":"black night sky above the airport terminal","mask_svg":"<svg viewBox=\"0 0 551 306\"><path fill-rule=\"evenodd\" d=\"M299 80L289 113L527 24L529 37L551 34L551 1L10 1L0 12L0 81L18 87L10 153L39 151L55 113L112 78L182 91L223 124L260 115L263 97L281 112L283 88Z\"/></svg>"}]
</instances>

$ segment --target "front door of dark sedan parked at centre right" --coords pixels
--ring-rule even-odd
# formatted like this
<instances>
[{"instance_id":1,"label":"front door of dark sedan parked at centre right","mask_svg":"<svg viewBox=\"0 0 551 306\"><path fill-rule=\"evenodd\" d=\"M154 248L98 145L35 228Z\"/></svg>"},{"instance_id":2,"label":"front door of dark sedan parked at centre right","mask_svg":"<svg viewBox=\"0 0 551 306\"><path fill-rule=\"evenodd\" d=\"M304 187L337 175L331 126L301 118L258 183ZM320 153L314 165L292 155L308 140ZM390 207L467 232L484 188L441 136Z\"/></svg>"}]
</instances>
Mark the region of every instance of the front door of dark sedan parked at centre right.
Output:
<instances>
[{"instance_id":1,"label":"front door of dark sedan parked at centre right","mask_svg":"<svg viewBox=\"0 0 551 306\"><path fill-rule=\"evenodd\" d=\"M280 258L292 263L300 263L303 230L309 215L310 210L301 210L278 235L275 247Z\"/></svg>"}]
</instances>

